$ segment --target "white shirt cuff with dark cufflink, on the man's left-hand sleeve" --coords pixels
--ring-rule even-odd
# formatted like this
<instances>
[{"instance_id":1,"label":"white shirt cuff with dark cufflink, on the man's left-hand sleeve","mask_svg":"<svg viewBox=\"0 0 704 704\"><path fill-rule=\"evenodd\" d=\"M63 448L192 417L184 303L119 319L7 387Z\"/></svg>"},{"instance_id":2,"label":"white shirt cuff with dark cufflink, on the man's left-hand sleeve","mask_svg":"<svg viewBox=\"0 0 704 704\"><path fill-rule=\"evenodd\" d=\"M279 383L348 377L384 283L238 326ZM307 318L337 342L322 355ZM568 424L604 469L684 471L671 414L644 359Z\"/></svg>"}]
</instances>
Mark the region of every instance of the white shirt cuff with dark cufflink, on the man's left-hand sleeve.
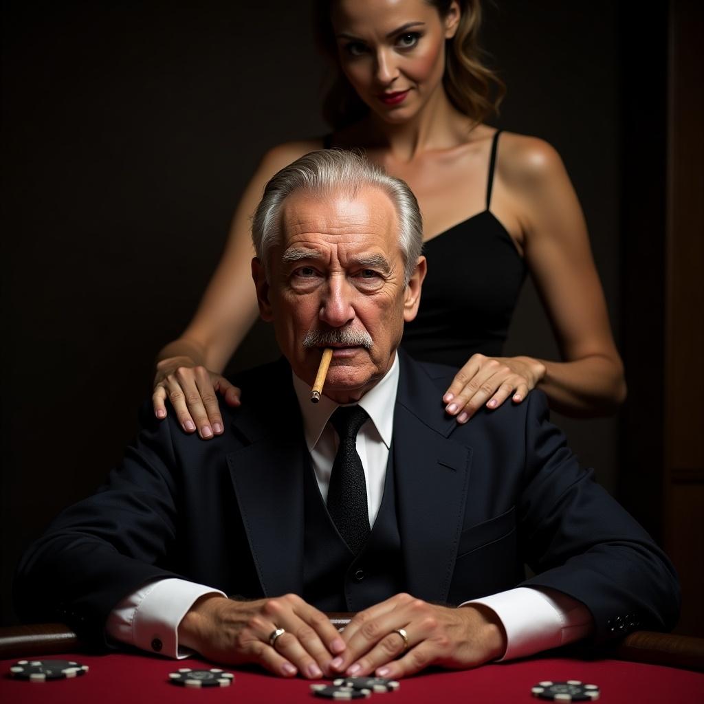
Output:
<instances>
[{"instance_id":1,"label":"white shirt cuff with dark cufflink, on the man's left-hand sleeve","mask_svg":"<svg viewBox=\"0 0 704 704\"><path fill-rule=\"evenodd\" d=\"M196 600L206 594L225 596L218 589L185 579L158 579L125 596L111 611L105 629L112 639L159 653L168 658L187 658L179 648L178 627Z\"/></svg>"}]
</instances>

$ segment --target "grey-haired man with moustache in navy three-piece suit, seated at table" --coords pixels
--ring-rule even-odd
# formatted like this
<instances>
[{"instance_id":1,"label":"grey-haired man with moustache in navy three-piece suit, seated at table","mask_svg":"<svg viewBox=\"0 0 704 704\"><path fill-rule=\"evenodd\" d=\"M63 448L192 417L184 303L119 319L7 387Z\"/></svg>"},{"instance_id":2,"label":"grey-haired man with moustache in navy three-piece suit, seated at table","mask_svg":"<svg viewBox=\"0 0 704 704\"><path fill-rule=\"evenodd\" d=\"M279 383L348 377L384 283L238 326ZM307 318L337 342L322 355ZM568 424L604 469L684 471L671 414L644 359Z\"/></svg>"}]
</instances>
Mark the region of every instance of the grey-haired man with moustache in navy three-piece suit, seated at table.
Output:
<instances>
[{"instance_id":1,"label":"grey-haired man with moustache in navy three-piece suit, seated at table","mask_svg":"<svg viewBox=\"0 0 704 704\"><path fill-rule=\"evenodd\" d=\"M437 403L454 370L398 352L426 268L403 182L311 153L270 181L253 239L285 359L237 379L244 403L214 441L147 413L106 486L25 555L22 612L310 678L672 626L670 562L578 467L542 394L458 425ZM338 634L331 611L358 613Z\"/></svg>"}]
</instances>

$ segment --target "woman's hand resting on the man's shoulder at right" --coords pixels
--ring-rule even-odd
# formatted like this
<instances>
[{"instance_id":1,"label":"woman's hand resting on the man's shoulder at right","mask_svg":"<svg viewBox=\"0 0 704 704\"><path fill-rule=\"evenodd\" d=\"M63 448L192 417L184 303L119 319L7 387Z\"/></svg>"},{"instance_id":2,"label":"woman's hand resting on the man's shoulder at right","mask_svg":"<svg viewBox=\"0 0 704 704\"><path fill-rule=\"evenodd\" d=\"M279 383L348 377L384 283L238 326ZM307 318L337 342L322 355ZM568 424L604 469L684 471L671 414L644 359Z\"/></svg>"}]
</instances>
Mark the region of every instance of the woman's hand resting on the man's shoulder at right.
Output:
<instances>
[{"instance_id":1,"label":"woman's hand resting on the man's shoulder at right","mask_svg":"<svg viewBox=\"0 0 704 704\"><path fill-rule=\"evenodd\" d=\"M520 403L544 376L545 365L532 357L474 354L443 396L445 410L466 423L482 406L494 410L509 396Z\"/></svg>"}]
</instances>

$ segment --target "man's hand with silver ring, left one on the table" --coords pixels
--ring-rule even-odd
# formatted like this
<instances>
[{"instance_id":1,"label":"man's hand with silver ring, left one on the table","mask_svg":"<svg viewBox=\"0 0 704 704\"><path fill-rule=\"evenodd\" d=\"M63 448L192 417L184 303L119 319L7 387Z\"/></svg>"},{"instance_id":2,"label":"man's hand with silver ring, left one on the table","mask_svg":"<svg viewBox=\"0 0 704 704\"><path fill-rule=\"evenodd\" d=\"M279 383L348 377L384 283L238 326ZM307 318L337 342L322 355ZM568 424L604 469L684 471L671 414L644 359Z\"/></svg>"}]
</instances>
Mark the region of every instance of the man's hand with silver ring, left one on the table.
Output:
<instances>
[{"instance_id":1,"label":"man's hand with silver ring, left one on the table","mask_svg":"<svg viewBox=\"0 0 704 704\"><path fill-rule=\"evenodd\" d=\"M277 628L286 632L270 646ZM226 665L256 662L274 674L318 679L333 674L332 658L345 643L328 617L295 594L258 601L232 601L208 594L184 616L179 643Z\"/></svg>"}]
</instances>

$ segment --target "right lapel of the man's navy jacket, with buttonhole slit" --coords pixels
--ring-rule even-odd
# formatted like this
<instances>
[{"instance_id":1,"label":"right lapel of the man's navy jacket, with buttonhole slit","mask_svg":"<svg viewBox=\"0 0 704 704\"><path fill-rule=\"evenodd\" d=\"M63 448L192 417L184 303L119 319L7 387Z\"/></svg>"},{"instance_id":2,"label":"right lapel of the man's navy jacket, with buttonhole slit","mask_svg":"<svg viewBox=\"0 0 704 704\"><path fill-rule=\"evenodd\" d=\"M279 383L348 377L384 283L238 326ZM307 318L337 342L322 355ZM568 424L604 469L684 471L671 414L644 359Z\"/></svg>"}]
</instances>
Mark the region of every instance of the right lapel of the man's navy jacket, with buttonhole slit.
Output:
<instances>
[{"instance_id":1,"label":"right lapel of the man's navy jacket, with buttonhole slit","mask_svg":"<svg viewBox=\"0 0 704 704\"><path fill-rule=\"evenodd\" d=\"M400 356L394 413L398 527L408 589L444 602L463 527L471 448L448 439L456 421L438 413L441 391L406 356Z\"/></svg>"}]
</instances>

